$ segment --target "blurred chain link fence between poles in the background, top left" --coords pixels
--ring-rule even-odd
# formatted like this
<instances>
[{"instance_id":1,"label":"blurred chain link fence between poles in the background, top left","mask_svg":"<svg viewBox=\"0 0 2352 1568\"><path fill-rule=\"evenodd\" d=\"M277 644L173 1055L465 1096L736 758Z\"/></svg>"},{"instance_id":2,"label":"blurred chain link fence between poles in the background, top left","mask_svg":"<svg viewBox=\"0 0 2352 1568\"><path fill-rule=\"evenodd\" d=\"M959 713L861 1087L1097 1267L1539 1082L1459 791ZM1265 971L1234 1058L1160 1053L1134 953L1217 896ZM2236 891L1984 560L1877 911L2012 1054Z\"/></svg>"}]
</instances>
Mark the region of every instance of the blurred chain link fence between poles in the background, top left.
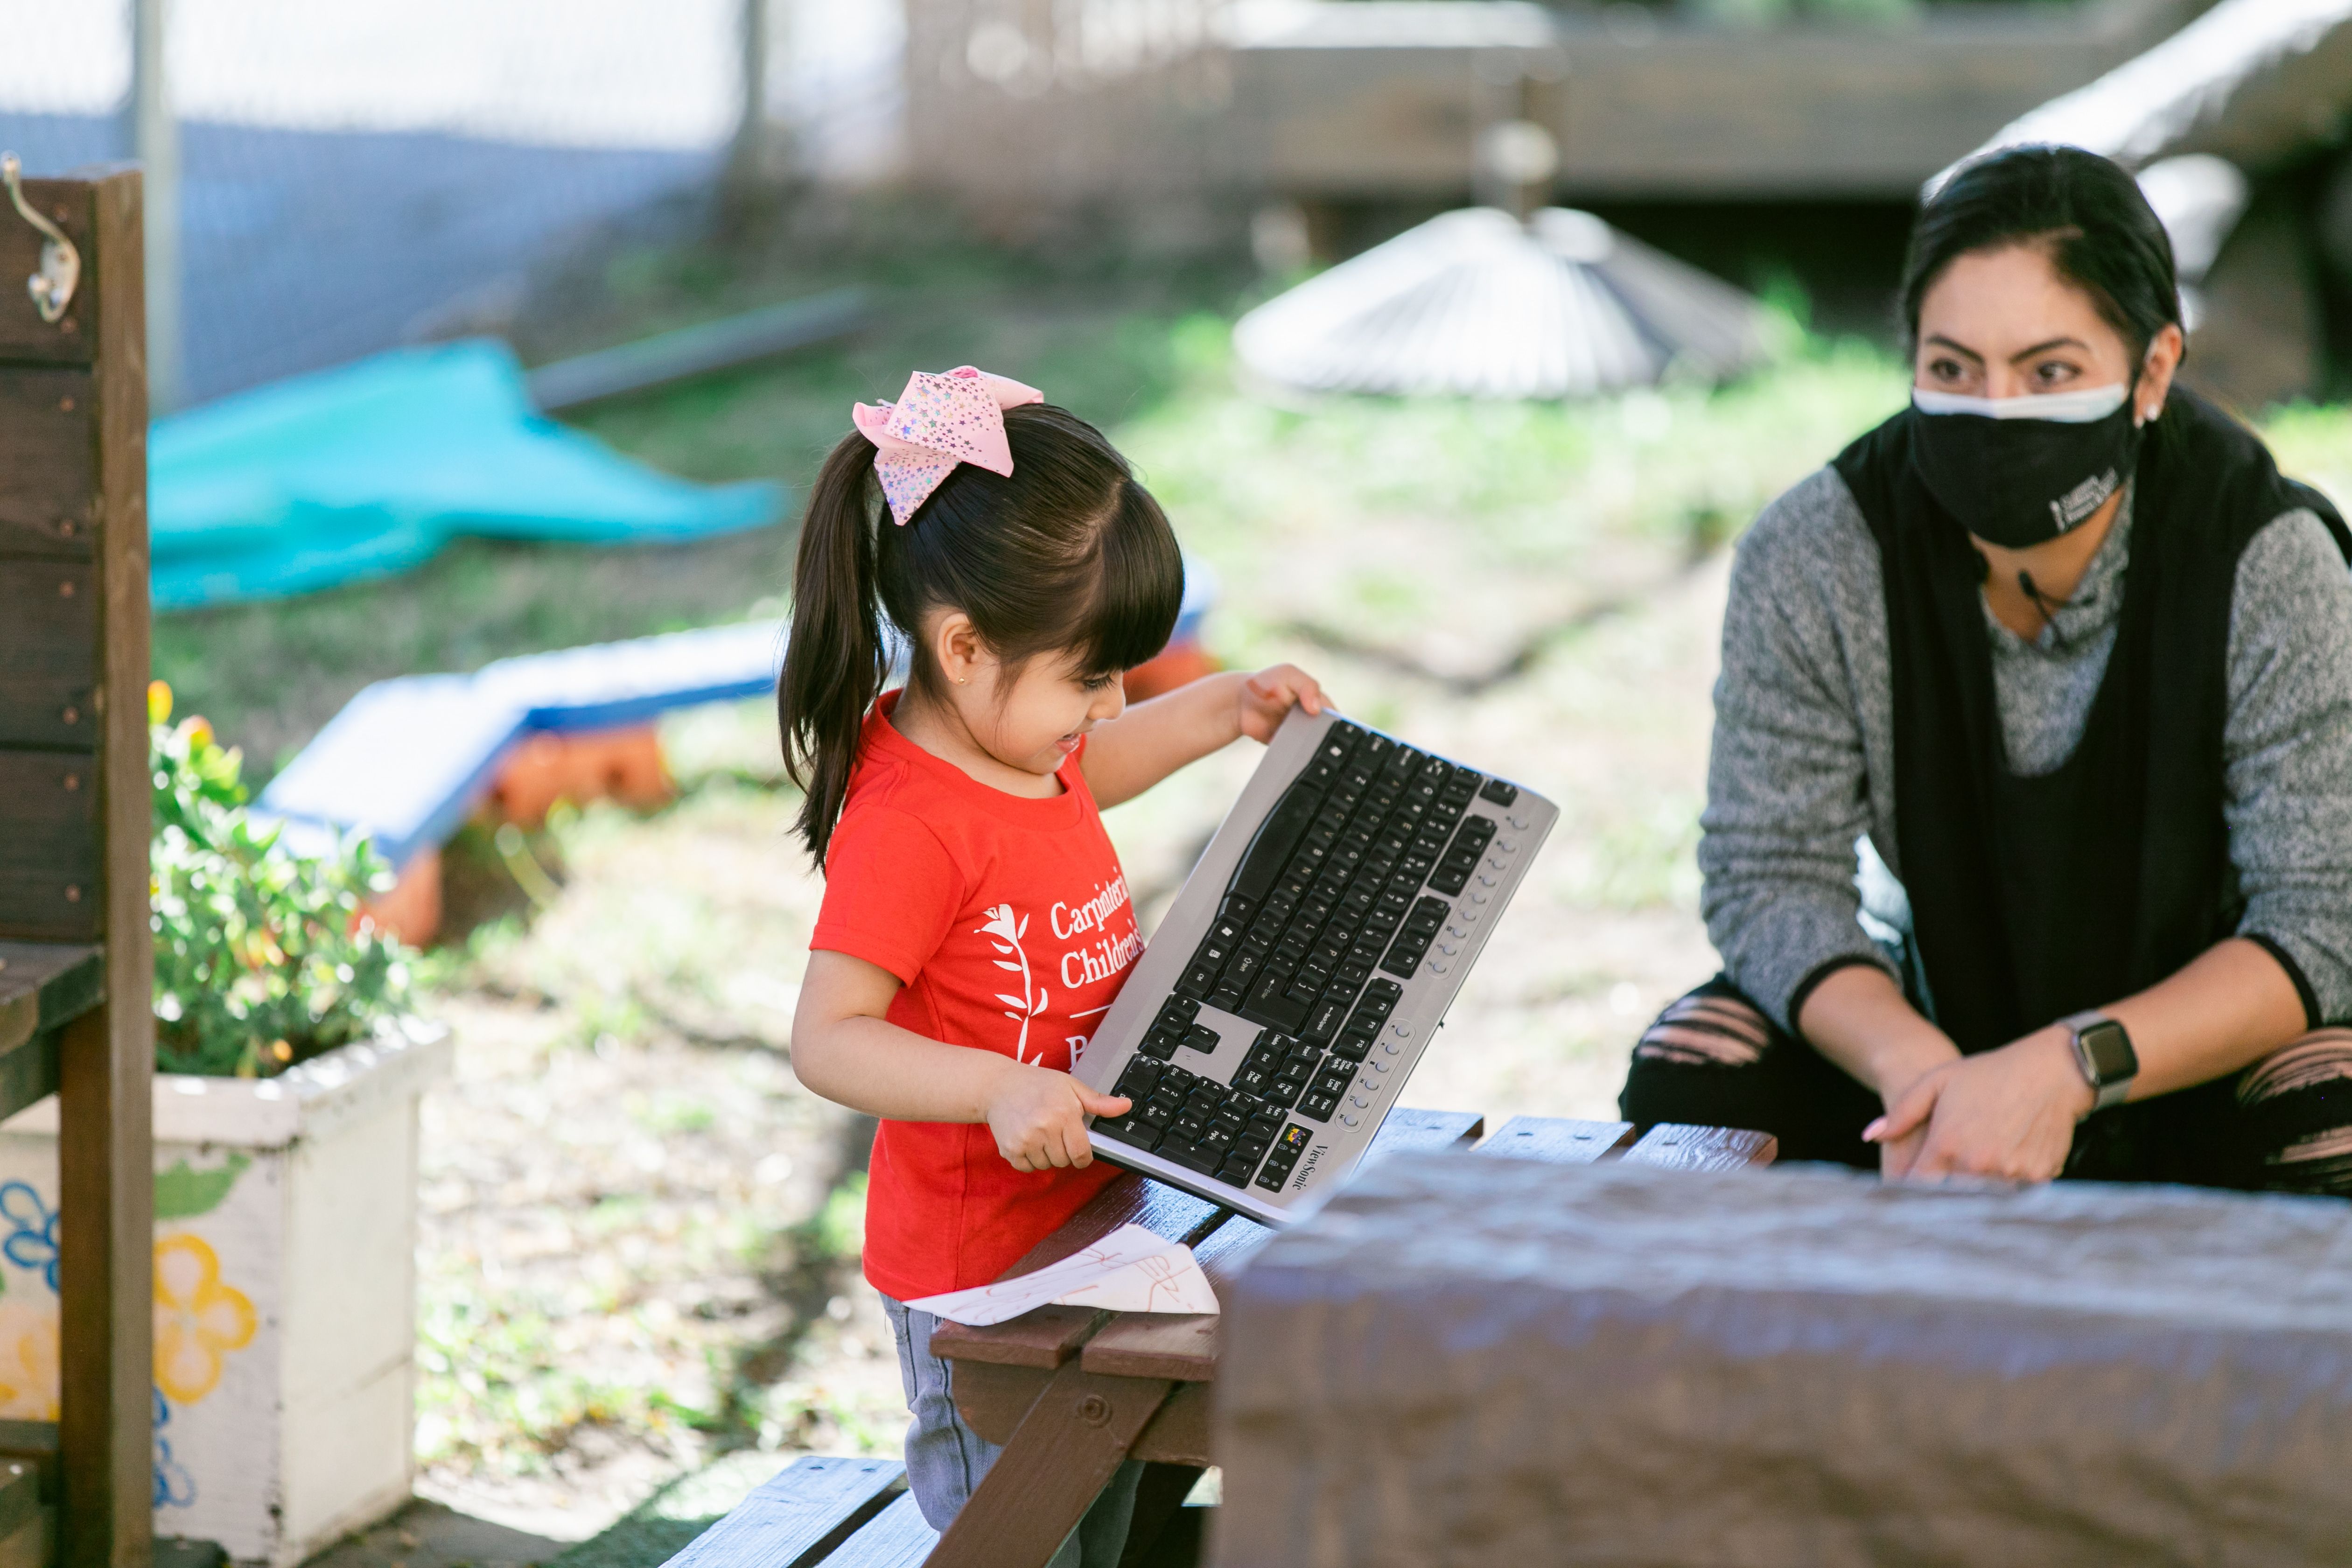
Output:
<instances>
[{"instance_id":1,"label":"blurred chain link fence between poles in the background, top left","mask_svg":"<svg viewBox=\"0 0 2352 1568\"><path fill-rule=\"evenodd\" d=\"M896 158L898 0L764 0L767 118ZM746 0L167 0L181 402L496 320L532 261L708 183ZM0 0L0 148L132 155L129 0Z\"/></svg>"}]
</instances>

